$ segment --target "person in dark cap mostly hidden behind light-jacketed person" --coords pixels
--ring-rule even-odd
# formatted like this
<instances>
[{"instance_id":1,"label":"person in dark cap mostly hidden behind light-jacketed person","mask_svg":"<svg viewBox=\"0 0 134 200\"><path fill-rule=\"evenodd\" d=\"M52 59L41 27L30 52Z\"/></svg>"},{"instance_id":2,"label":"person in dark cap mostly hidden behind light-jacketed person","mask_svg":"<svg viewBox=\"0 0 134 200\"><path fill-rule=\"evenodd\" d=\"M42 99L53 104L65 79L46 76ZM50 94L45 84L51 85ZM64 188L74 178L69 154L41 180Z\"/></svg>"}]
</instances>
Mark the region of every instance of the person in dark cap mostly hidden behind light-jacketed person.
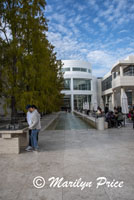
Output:
<instances>
[{"instance_id":1,"label":"person in dark cap mostly hidden behind light-jacketed person","mask_svg":"<svg viewBox=\"0 0 134 200\"><path fill-rule=\"evenodd\" d=\"M27 119L28 126L30 126L31 119L32 119L31 105L27 105L26 109L28 110L27 111L26 119ZM27 146L27 148L25 150L26 151L31 151L32 150L32 145L31 145L31 130L30 129L29 129L29 144L28 144L28 146Z\"/></svg>"}]
</instances>

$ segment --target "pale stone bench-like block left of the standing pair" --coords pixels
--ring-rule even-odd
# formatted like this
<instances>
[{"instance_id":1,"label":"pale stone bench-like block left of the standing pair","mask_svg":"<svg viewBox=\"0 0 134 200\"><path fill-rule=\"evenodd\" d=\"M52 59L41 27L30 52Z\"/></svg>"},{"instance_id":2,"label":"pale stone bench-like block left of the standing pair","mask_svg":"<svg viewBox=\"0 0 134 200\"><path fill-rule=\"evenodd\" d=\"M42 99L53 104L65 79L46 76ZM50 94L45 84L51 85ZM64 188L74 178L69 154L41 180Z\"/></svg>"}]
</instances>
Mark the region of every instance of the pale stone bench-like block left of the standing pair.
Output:
<instances>
[{"instance_id":1,"label":"pale stone bench-like block left of the standing pair","mask_svg":"<svg viewBox=\"0 0 134 200\"><path fill-rule=\"evenodd\" d=\"M19 154L28 145L28 128L20 130L0 130L0 154Z\"/></svg>"}]
</instances>

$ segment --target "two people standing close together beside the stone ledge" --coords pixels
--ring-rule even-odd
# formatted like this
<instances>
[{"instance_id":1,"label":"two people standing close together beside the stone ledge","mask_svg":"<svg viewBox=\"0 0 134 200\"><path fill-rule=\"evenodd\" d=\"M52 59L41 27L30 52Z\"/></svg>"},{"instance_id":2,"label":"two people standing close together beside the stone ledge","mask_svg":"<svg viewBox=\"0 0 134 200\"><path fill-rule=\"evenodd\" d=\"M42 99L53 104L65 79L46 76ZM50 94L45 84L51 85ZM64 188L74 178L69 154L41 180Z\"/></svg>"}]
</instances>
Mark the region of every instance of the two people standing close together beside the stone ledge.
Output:
<instances>
[{"instance_id":1,"label":"two people standing close together beside the stone ledge","mask_svg":"<svg viewBox=\"0 0 134 200\"><path fill-rule=\"evenodd\" d=\"M26 151L38 151L38 134L41 129L40 114L35 105L27 105L27 123L29 125L29 146Z\"/></svg>"}]
</instances>

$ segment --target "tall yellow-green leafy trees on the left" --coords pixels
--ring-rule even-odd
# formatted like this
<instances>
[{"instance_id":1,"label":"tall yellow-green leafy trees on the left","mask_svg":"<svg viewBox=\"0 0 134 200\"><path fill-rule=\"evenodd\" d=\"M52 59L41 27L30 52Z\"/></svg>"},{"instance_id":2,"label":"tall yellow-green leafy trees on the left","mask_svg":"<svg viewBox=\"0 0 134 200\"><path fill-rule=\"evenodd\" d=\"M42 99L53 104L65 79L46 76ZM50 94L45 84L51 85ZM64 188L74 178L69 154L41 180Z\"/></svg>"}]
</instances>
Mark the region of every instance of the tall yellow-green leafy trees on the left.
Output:
<instances>
[{"instance_id":1,"label":"tall yellow-green leafy trees on the left","mask_svg":"<svg viewBox=\"0 0 134 200\"><path fill-rule=\"evenodd\" d=\"M62 103L62 63L46 37L44 0L0 2L0 94L12 109L35 104L41 112Z\"/></svg>"}]
</instances>

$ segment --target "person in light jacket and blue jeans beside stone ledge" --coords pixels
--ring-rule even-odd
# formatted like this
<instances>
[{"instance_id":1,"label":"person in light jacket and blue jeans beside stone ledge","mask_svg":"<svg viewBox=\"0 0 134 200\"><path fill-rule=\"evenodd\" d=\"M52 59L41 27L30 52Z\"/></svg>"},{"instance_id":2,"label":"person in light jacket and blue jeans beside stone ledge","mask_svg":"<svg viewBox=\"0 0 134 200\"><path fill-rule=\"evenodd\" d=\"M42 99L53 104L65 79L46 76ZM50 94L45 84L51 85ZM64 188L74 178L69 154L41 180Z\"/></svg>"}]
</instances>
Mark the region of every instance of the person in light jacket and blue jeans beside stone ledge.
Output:
<instances>
[{"instance_id":1,"label":"person in light jacket and blue jeans beside stone ledge","mask_svg":"<svg viewBox=\"0 0 134 200\"><path fill-rule=\"evenodd\" d=\"M31 130L31 145L33 150L38 151L38 133L41 129L40 114L34 105L31 106L30 111L32 112L31 123L29 125L29 130Z\"/></svg>"}]
</instances>

